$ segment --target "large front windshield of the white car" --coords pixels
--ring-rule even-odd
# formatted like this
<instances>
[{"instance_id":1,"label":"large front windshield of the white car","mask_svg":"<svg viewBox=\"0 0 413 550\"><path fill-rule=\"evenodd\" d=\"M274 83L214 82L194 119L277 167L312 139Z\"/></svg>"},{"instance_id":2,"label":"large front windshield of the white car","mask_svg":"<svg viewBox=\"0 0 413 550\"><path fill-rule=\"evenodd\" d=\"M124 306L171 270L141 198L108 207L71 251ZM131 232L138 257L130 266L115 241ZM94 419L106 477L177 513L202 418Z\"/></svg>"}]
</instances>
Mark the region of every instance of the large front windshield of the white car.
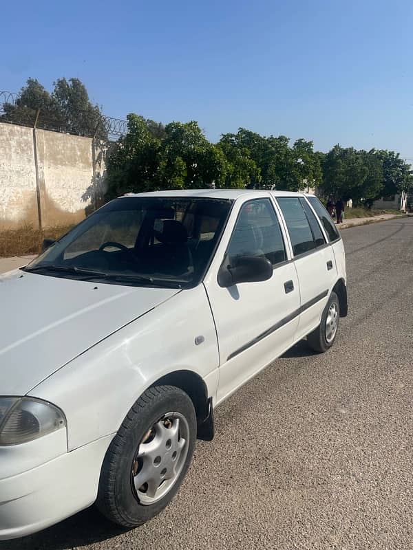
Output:
<instances>
[{"instance_id":1,"label":"large front windshield of the white car","mask_svg":"<svg viewBox=\"0 0 413 550\"><path fill-rule=\"evenodd\" d=\"M231 201L123 197L52 244L25 271L120 285L199 283Z\"/></svg>"}]
</instances>

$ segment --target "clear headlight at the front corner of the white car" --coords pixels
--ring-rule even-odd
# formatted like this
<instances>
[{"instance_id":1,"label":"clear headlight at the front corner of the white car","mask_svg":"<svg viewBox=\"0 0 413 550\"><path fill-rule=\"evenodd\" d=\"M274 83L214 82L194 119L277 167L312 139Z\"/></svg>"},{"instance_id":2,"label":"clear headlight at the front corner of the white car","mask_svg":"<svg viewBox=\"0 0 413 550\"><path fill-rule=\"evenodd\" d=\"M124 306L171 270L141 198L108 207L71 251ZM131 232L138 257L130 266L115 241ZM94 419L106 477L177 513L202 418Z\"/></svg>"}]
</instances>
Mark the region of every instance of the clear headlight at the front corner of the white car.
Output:
<instances>
[{"instance_id":1,"label":"clear headlight at the front corner of the white car","mask_svg":"<svg viewBox=\"0 0 413 550\"><path fill-rule=\"evenodd\" d=\"M32 441L66 426L63 412L32 397L0 397L0 445Z\"/></svg>"}]
</instances>

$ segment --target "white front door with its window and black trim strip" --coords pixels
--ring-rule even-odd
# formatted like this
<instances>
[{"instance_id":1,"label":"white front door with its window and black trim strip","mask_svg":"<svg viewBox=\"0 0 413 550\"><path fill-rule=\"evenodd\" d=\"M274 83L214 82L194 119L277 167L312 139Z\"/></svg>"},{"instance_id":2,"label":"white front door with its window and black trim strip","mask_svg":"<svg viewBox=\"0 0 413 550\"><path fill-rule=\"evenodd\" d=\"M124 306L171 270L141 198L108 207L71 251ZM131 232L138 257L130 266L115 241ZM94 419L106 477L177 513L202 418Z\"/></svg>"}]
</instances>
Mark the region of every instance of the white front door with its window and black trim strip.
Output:
<instances>
[{"instance_id":1,"label":"white front door with its window and black trim strip","mask_svg":"<svg viewBox=\"0 0 413 550\"><path fill-rule=\"evenodd\" d=\"M234 221L204 281L220 350L218 402L286 351L299 321L297 272L288 262L286 234L271 199L245 201L233 209L229 227ZM217 275L224 258L231 263L242 255L266 256L273 264L271 278L220 287Z\"/></svg>"}]
</instances>

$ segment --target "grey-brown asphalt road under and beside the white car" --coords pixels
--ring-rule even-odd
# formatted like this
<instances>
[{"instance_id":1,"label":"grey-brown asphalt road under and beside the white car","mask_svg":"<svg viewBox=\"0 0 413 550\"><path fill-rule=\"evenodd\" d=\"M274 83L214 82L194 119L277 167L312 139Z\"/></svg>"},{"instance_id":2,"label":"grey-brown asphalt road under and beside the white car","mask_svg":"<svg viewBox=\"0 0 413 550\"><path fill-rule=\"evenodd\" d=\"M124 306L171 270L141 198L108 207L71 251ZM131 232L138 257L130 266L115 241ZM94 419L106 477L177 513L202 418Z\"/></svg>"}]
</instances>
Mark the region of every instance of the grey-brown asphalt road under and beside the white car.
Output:
<instances>
[{"instance_id":1,"label":"grey-brown asphalt road under and beside the white car","mask_svg":"<svg viewBox=\"0 0 413 550\"><path fill-rule=\"evenodd\" d=\"M220 406L167 510L125 532L91 508L0 550L413 548L413 219L343 239L335 346L300 342Z\"/></svg>"}]
</instances>

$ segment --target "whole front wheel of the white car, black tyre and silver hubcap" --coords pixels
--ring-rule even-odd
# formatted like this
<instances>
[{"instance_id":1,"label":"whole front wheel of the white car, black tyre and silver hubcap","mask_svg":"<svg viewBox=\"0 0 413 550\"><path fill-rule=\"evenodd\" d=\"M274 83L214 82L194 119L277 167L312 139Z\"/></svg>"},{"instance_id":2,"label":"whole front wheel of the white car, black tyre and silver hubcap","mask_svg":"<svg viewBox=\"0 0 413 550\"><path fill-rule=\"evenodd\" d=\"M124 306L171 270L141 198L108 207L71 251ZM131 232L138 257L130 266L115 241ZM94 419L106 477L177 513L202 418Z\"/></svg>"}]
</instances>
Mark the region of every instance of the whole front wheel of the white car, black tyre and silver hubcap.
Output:
<instances>
[{"instance_id":1,"label":"whole front wheel of the white car, black tyre and silver hubcap","mask_svg":"<svg viewBox=\"0 0 413 550\"><path fill-rule=\"evenodd\" d=\"M175 386L149 388L129 410L100 474L98 509L123 527L159 514L175 496L191 463L196 417Z\"/></svg>"}]
</instances>

